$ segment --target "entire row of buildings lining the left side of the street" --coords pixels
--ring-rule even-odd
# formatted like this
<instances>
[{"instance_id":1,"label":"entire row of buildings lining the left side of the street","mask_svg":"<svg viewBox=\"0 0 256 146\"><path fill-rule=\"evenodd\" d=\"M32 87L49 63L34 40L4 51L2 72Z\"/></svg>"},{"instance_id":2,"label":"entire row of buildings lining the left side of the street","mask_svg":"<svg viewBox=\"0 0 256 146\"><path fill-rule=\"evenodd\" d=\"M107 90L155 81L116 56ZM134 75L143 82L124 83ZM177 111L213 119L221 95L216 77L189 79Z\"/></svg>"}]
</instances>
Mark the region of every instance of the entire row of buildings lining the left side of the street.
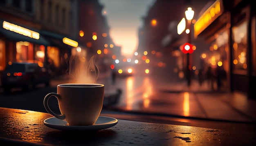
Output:
<instances>
[{"instance_id":1,"label":"entire row of buildings lining the left side of the street","mask_svg":"<svg viewBox=\"0 0 256 146\"><path fill-rule=\"evenodd\" d=\"M102 8L97 0L2 0L0 70L8 62L36 62L54 77L67 74L69 59L77 49L88 56L104 52L109 48L105 44L113 43ZM95 40L93 33L98 35ZM106 58L103 54L97 54L101 64Z\"/></svg>"}]
</instances>

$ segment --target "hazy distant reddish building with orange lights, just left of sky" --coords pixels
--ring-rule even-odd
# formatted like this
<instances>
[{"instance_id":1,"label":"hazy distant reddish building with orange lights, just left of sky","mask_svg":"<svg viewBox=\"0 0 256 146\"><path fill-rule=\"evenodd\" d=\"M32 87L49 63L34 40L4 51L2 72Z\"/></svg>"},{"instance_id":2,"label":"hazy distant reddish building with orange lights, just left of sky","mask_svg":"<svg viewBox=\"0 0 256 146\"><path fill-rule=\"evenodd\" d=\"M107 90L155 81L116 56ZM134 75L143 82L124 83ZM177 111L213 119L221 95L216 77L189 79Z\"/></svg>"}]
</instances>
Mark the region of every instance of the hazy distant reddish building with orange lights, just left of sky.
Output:
<instances>
[{"instance_id":1,"label":"hazy distant reddish building with orange lights, just left of sky","mask_svg":"<svg viewBox=\"0 0 256 146\"><path fill-rule=\"evenodd\" d=\"M116 54L115 44L109 35L110 27L103 12L104 6L98 0L79 1L79 42L83 42L84 55L90 59L96 55L100 73L110 71L112 55ZM86 52L86 53L85 53Z\"/></svg>"}]
</instances>

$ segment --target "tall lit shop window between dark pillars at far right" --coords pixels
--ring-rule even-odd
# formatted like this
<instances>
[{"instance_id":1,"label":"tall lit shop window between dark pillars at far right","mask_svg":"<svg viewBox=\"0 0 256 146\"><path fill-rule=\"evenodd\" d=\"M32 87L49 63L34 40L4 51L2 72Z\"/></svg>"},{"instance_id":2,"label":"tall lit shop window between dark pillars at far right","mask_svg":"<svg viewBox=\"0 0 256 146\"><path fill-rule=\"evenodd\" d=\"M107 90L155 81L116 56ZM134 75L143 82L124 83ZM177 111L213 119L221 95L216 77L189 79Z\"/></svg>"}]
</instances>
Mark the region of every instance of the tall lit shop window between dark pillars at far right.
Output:
<instances>
[{"instance_id":1,"label":"tall lit shop window between dark pillars at far right","mask_svg":"<svg viewBox=\"0 0 256 146\"><path fill-rule=\"evenodd\" d=\"M237 73L245 73L247 69L247 22L232 28L232 66ZM242 72L241 72L242 71Z\"/></svg>"}]
</instances>

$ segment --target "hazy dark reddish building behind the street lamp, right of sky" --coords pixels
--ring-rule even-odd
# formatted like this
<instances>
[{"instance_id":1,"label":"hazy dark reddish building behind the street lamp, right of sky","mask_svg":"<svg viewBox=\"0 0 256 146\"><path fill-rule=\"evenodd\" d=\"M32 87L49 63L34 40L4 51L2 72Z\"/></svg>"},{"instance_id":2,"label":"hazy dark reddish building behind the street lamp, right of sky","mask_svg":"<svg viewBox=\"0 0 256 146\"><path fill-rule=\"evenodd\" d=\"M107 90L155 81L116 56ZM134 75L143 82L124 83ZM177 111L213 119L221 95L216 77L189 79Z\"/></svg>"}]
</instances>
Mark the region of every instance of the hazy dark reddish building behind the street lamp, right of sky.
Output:
<instances>
[{"instance_id":1,"label":"hazy dark reddish building behind the street lamp, right of sky","mask_svg":"<svg viewBox=\"0 0 256 146\"><path fill-rule=\"evenodd\" d=\"M200 10L208 0L156 0L149 8L148 13L143 20L143 26L139 29L139 46L138 52L144 55L147 51L147 58L150 63L145 64L151 68L151 73L158 75L166 73L173 79L185 79L185 55L180 47L188 41L188 34L183 32L177 34L177 24L185 18L185 11L192 7L195 11L193 19L200 14ZM191 30L193 34L193 30ZM198 46L193 56L192 64L200 69L200 52L207 44L201 40L191 38L193 44ZM193 70L193 72L196 72Z\"/></svg>"}]
</instances>

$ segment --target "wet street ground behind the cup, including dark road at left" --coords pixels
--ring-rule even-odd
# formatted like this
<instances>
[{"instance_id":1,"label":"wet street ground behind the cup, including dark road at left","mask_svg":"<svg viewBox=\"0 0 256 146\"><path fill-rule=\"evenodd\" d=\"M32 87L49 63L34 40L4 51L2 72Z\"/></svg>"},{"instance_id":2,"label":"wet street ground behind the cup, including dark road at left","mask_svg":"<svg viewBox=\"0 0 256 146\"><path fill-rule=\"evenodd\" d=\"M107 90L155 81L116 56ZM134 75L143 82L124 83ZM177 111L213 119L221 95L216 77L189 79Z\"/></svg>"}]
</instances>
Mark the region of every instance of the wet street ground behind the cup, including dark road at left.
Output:
<instances>
[{"instance_id":1,"label":"wet street ground behind the cup, including dark road at left","mask_svg":"<svg viewBox=\"0 0 256 146\"><path fill-rule=\"evenodd\" d=\"M2 93L0 106L47 113L43 106L43 98L47 93L56 93L58 84L67 82L64 78L58 78L52 80L48 88L38 87L28 93L17 88L13 93ZM251 124L256 122L255 100L247 99L243 93L212 91L208 81L200 86L197 80L193 80L192 85L188 87L185 81L171 76L163 78L147 75L117 77L113 83L110 76L103 75L97 83L105 85L104 111L176 117L180 122L189 119ZM121 89L119 95L118 89ZM110 95L113 97L109 97ZM117 102L109 102L113 100L109 98L117 98ZM53 110L58 112L57 100L52 98L50 103Z\"/></svg>"}]
</instances>

